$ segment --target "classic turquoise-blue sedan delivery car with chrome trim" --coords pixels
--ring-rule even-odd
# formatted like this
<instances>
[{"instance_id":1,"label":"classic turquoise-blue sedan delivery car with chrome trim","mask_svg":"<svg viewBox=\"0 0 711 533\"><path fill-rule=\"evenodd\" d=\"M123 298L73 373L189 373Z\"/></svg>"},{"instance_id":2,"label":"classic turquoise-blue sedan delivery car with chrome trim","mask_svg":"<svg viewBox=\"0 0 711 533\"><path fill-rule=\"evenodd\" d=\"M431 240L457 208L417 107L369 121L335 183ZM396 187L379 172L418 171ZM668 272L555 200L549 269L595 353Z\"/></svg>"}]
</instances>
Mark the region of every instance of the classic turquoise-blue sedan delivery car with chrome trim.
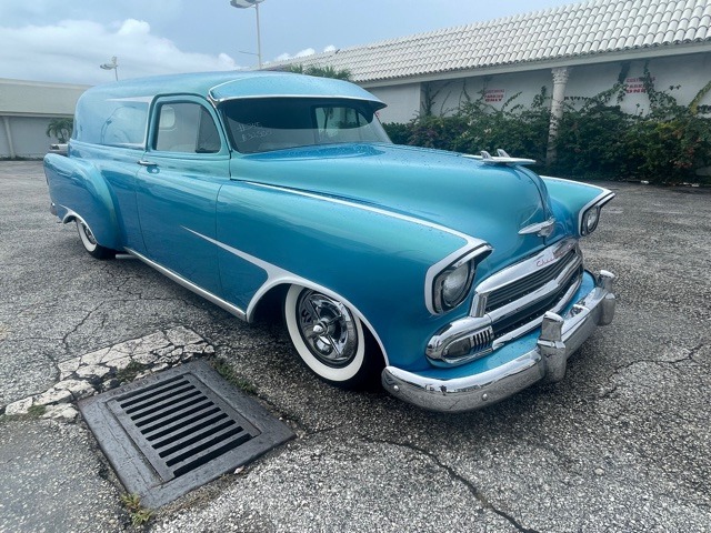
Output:
<instances>
[{"instance_id":1,"label":"classic turquoise-blue sedan delivery car with chrome trim","mask_svg":"<svg viewBox=\"0 0 711 533\"><path fill-rule=\"evenodd\" d=\"M394 145L361 88L279 72L88 90L51 210L87 251L130 253L236 316L279 301L303 362L435 411L539 380L614 313L579 239L613 194L500 151Z\"/></svg>"}]
</instances>

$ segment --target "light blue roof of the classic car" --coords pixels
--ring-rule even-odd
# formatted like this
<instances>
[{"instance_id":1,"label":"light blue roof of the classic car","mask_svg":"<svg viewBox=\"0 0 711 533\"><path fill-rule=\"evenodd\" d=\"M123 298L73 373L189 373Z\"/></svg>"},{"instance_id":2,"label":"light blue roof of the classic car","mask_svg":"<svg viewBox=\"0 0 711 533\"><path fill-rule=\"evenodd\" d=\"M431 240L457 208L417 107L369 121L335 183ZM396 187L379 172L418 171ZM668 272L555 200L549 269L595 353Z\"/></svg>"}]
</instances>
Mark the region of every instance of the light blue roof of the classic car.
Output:
<instances>
[{"instance_id":1,"label":"light blue roof of the classic car","mask_svg":"<svg viewBox=\"0 0 711 533\"><path fill-rule=\"evenodd\" d=\"M149 98L197 94L216 102L263 97L336 97L382 102L364 89L342 80L291 72L228 71L157 76L107 83L89 89L93 97Z\"/></svg>"}]
</instances>

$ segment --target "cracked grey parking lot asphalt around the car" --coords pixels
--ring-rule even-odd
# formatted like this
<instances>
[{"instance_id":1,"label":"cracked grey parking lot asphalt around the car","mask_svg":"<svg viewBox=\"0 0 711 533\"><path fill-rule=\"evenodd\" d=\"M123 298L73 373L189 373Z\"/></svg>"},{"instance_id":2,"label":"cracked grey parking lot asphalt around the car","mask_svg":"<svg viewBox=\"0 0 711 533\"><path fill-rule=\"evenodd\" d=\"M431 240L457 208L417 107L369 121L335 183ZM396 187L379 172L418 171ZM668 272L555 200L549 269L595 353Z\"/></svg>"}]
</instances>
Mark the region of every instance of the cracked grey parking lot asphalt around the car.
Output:
<instances>
[{"instance_id":1,"label":"cracked grey parking lot asphalt around the car","mask_svg":"<svg viewBox=\"0 0 711 533\"><path fill-rule=\"evenodd\" d=\"M279 325L248 325L129 259L97 261L49 213L40 162L0 162L0 411L58 364L184 326L298 438L158 510L154 532L711 529L711 194L608 183L582 242L619 275L613 323L565 379L443 415L343 392ZM393 309L397 312L397 309ZM0 416L0 531L131 531L81 420Z\"/></svg>"}]
</instances>

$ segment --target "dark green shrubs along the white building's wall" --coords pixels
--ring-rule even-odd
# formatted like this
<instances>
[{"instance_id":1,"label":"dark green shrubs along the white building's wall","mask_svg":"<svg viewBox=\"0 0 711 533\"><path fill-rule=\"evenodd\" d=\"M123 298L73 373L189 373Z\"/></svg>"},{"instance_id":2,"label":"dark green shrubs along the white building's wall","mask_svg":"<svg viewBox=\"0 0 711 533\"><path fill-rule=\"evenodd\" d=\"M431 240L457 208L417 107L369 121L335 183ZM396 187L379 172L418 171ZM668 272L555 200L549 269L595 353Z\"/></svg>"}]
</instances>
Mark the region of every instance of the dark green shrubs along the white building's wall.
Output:
<instances>
[{"instance_id":1,"label":"dark green shrubs along the white building's wall","mask_svg":"<svg viewBox=\"0 0 711 533\"><path fill-rule=\"evenodd\" d=\"M541 171L558 175L648 180L653 183L700 182L697 170L711 165L711 118L699 102L711 91L711 82L688 107L680 105L669 91L654 88L644 70L643 82L650 102L647 114L624 113L618 103L624 98L624 76L612 88L593 98L567 99L557 124L557 160ZM467 97L467 95L465 95ZM511 97L501 109L480 98L465 101L451 117L419 117L407 124L385 124L395 143L491 153L503 148L511 155L545 161L550 110L544 88L525 108Z\"/></svg>"}]
</instances>

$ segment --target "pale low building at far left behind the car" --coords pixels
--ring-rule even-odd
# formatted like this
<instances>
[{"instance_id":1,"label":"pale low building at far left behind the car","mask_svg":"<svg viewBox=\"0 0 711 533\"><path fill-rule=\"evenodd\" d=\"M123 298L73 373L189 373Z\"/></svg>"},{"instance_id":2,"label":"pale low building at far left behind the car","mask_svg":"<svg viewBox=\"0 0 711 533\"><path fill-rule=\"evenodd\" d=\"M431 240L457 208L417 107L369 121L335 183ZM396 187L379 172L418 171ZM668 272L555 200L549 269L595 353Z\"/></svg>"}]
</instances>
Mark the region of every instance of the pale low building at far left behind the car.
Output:
<instances>
[{"instance_id":1,"label":"pale low building at far left behind the car","mask_svg":"<svg viewBox=\"0 0 711 533\"><path fill-rule=\"evenodd\" d=\"M0 158L42 158L57 139L47 137L52 119L73 117L89 86L0 79Z\"/></svg>"}]
</instances>

